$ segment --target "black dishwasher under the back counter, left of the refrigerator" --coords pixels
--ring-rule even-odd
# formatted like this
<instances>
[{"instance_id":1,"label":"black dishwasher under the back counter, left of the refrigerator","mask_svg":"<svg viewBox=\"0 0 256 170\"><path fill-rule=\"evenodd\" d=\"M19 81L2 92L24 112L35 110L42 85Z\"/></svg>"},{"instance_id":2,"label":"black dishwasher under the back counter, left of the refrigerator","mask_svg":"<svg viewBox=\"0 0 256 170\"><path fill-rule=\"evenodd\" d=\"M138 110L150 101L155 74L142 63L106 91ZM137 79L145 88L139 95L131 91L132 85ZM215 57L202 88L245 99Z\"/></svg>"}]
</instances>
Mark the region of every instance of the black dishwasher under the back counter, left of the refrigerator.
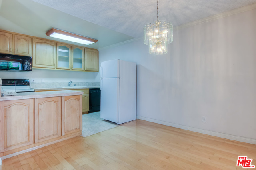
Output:
<instances>
[{"instance_id":1,"label":"black dishwasher under the back counter, left of the refrigerator","mask_svg":"<svg viewBox=\"0 0 256 170\"><path fill-rule=\"evenodd\" d=\"M100 111L100 88L89 89L89 112Z\"/></svg>"}]
</instances>

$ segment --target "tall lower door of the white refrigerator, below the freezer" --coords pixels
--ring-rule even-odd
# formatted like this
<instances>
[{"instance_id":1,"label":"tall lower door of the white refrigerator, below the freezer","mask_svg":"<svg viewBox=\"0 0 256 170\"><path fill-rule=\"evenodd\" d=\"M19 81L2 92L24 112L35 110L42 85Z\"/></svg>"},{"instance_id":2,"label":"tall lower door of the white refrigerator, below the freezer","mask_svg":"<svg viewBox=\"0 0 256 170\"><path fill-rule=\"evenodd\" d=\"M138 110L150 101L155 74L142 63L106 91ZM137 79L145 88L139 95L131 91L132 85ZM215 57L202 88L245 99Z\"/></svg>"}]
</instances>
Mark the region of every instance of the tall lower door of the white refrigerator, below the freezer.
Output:
<instances>
[{"instance_id":1,"label":"tall lower door of the white refrigerator, below the freezer","mask_svg":"<svg viewBox=\"0 0 256 170\"><path fill-rule=\"evenodd\" d=\"M119 78L102 78L100 118L119 124Z\"/></svg>"}]
</instances>

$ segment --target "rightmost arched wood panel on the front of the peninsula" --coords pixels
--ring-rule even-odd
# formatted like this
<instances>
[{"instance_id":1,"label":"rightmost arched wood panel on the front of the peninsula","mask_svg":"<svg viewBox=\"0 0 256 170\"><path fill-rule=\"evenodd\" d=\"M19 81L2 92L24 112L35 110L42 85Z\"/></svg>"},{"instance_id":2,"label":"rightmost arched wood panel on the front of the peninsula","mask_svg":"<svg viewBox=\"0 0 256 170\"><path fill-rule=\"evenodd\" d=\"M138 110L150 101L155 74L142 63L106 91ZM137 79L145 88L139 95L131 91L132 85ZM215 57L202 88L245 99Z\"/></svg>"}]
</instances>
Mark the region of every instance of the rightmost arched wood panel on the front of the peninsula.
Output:
<instances>
[{"instance_id":1,"label":"rightmost arched wood panel on the front of the peninsula","mask_svg":"<svg viewBox=\"0 0 256 170\"><path fill-rule=\"evenodd\" d=\"M62 96L62 135L82 130L82 95Z\"/></svg>"}]
</instances>

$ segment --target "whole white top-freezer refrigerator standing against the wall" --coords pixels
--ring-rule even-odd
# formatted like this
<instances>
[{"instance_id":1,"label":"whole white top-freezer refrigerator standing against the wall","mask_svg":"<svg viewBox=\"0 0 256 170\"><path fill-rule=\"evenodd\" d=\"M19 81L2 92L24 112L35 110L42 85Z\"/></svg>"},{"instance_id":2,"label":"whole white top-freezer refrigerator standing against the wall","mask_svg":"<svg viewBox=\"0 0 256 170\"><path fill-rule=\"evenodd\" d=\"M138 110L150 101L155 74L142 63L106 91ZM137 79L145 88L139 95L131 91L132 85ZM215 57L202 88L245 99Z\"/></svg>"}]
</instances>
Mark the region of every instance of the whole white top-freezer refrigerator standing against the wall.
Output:
<instances>
[{"instance_id":1,"label":"whole white top-freezer refrigerator standing against the wall","mask_svg":"<svg viewBox=\"0 0 256 170\"><path fill-rule=\"evenodd\" d=\"M101 62L100 118L122 124L136 119L136 63Z\"/></svg>"}]
</instances>

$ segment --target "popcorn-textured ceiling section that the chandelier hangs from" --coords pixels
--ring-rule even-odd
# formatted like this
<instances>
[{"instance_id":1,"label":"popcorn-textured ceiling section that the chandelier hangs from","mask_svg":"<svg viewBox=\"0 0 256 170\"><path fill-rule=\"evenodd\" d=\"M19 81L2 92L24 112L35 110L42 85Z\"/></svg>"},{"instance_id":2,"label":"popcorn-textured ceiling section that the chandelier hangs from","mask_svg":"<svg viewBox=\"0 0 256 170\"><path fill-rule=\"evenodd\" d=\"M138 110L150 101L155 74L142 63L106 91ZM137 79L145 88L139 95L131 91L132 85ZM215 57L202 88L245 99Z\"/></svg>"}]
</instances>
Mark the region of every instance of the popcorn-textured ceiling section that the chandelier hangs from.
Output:
<instances>
[{"instance_id":1,"label":"popcorn-textured ceiling section that the chandelier hangs from","mask_svg":"<svg viewBox=\"0 0 256 170\"><path fill-rule=\"evenodd\" d=\"M157 0L33 0L82 20L140 38L157 20ZM256 0L159 0L159 20L179 26L253 4ZM84 28L86 29L86 28Z\"/></svg>"}]
</instances>

